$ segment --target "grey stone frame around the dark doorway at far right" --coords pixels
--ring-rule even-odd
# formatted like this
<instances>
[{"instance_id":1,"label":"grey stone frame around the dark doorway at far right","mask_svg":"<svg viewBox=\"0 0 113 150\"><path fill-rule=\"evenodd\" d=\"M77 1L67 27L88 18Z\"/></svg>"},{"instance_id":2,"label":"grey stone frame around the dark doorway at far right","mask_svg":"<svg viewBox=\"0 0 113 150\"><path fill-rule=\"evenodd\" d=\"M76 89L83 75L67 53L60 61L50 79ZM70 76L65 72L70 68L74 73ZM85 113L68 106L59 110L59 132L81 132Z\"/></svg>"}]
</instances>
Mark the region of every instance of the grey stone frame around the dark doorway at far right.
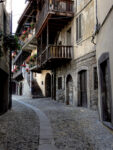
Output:
<instances>
[{"instance_id":1,"label":"grey stone frame around the dark doorway at far right","mask_svg":"<svg viewBox=\"0 0 113 150\"><path fill-rule=\"evenodd\" d=\"M109 71L109 93L110 93L110 103L111 103L111 123L113 125L113 101L112 101L112 86L111 86L111 73L110 73L110 62L109 62L109 52L103 53L98 59L98 74L99 74L99 114L100 120L103 122L103 110L102 110L102 94L101 94L101 64L108 61L108 71ZM106 125L106 124L105 124ZM113 128L112 128L113 129Z\"/></svg>"}]
</instances>

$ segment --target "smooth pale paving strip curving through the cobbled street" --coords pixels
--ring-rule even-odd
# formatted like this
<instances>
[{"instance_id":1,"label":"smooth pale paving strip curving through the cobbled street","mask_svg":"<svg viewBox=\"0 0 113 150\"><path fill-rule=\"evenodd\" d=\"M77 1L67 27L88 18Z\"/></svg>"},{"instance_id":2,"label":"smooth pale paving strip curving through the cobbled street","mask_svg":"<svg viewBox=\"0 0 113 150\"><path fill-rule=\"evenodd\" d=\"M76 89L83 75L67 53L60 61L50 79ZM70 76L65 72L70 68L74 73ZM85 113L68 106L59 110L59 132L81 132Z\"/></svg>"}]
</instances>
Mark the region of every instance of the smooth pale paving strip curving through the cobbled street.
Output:
<instances>
[{"instance_id":1,"label":"smooth pale paving strip curving through the cobbled street","mask_svg":"<svg viewBox=\"0 0 113 150\"><path fill-rule=\"evenodd\" d=\"M52 128L46 115L42 111L40 111L40 109L30 104L24 103L19 99L14 100L27 106L28 108L31 108L33 111L35 111L35 113L39 117L40 120L39 150L57 150L57 148L54 146L55 143L53 139Z\"/></svg>"}]
</instances>

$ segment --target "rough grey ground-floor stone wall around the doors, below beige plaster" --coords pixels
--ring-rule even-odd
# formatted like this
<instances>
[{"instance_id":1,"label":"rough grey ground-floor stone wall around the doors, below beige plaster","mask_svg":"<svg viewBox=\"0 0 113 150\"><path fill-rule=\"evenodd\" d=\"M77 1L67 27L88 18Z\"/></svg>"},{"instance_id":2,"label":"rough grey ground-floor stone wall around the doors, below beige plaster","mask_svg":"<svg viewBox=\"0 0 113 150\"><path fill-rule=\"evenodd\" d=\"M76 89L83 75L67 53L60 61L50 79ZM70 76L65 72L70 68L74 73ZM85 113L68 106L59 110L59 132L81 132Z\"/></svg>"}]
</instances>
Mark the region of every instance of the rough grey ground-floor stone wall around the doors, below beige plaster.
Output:
<instances>
[{"instance_id":1,"label":"rough grey ground-floor stone wall around the doors, below beige plaster","mask_svg":"<svg viewBox=\"0 0 113 150\"><path fill-rule=\"evenodd\" d=\"M73 80L73 105L78 105L78 72L87 71L87 107L97 109L97 90L94 90L93 68L96 66L95 51L73 60L56 70L56 100L66 102L66 80L71 75ZM62 77L62 89L58 89L58 77Z\"/></svg>"}]
</instances>

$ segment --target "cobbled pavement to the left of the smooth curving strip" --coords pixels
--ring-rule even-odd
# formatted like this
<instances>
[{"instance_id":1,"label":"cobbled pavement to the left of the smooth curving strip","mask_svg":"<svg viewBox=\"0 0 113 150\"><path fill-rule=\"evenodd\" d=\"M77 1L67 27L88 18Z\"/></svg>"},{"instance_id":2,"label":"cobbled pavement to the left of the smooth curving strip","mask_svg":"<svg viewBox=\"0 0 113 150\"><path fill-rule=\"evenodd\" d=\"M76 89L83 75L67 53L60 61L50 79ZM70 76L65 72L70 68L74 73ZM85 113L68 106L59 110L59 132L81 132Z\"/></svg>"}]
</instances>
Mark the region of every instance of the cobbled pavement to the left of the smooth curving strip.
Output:
<instances>
[{"instance_id":1,"label":"cobbled pavement to the left of the smooth curving strip","mask_svg":"<svg viewBox=\"0 0 113 150\"><path fill-rule=\"evenodd\" d=\"M14 101L0 116L0 150L38 150L39 128L35 112Z\"/></svg>"}]
</instances>

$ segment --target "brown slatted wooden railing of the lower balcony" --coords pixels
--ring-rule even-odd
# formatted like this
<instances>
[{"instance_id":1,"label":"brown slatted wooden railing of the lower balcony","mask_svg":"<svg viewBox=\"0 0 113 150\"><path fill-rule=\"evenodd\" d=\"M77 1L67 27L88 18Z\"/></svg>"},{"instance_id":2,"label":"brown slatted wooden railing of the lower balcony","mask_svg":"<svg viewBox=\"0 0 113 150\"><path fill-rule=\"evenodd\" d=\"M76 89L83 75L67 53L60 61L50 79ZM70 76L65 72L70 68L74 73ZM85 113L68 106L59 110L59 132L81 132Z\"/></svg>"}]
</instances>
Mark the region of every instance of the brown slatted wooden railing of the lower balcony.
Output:
<instances>
[{"instance_id":1,"label":"brown slatted wooden railing of the lower balcony","mask_svg":"<svg viewBox=\"0 0 113 150\"><path fill-rule=\"evenodd\" d=\"M48 46L41 55L37 58L38 67L42 66L49 60L72 59L72 46Z\"/></svg>"}]
</instances>

